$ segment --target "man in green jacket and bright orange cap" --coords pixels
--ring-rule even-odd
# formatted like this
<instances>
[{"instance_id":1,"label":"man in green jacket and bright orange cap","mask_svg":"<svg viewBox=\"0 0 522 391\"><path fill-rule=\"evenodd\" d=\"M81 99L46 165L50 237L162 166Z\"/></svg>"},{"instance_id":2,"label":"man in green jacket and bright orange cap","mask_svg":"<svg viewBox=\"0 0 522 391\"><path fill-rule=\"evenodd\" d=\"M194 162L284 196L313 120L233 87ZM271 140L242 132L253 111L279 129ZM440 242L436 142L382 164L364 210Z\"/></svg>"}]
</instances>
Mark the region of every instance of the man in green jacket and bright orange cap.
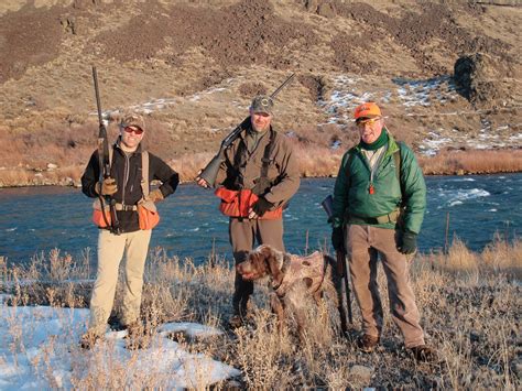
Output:
<instances>
[{"instance_id":1,"label":"man in green jacket and bright orange cap","mask_svg":"<svg viewBox=\"0 0 522 391\"><path fill-rule=\"evenodd\" d=\"M334 189L331 241L347 252L354 291L362 315L357 346L379 344L383 325L377 284L378 254L388 279L390 309L406 349L422 361L435 351L425 345L409 261L426 209L426 185L413 152L393 140L381 110L366 102L355 110L360 142L342 158Z\"/></svg>"}]
</instances>

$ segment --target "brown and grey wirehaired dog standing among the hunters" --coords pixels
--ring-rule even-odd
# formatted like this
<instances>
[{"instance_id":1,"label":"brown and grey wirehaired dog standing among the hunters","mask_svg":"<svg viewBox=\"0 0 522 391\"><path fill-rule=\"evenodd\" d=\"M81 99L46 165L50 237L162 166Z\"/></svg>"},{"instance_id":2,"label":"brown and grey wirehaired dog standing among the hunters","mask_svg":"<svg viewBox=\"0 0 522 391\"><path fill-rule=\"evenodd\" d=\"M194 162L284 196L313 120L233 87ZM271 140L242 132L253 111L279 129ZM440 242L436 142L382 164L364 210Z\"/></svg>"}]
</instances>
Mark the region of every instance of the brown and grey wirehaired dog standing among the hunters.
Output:
<instances>
[{"instance_id":1,"label":"brown and grey wirehaired dog standing among the hunters","mask_svg":"<svg viewBox=\"0 0 522 391\"><path fill-rule=\"evenodd\" d=\"M307 305L318 305L325 293L335 301L340 318L346 318L344 307L339 304L342 303L341 278L337 275L335 265L335 259L318 251L308 257L298 257L262 245L250 251L236 270L244 280L270 279L273 290L270 305L278 316L278 328L282 330L286 315L291 312L297 323L300 338L303 339Z\"/></svg>"}]
</instances>

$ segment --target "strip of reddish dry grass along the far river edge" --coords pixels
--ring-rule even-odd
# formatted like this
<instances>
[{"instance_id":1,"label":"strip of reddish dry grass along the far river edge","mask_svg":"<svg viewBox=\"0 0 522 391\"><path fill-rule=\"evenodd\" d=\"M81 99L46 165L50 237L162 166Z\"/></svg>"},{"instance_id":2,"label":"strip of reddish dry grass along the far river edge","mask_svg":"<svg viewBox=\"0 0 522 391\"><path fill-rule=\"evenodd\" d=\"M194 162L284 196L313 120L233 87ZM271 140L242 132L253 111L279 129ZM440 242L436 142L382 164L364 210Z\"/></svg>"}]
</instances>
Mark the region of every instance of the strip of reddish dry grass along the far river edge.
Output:
<instances>
[{"instance_id":1,"label":"strip of reddish dry grass along the far river edge","mask_svg":"<svg viewBox=\"0 0 522 391\"><path fill-rule=\"evenodd\" d=\"M297 159L303 177L337 175L344 151L297 144ZM182 182L193 182L213 158L210 153L192 153L168 161ZM522 149L445 150L433 156L417 154L425 175L474 175L522 172ZM0 167L1 187L80 186L85 165Z\"/></svg>"}]
</instances>

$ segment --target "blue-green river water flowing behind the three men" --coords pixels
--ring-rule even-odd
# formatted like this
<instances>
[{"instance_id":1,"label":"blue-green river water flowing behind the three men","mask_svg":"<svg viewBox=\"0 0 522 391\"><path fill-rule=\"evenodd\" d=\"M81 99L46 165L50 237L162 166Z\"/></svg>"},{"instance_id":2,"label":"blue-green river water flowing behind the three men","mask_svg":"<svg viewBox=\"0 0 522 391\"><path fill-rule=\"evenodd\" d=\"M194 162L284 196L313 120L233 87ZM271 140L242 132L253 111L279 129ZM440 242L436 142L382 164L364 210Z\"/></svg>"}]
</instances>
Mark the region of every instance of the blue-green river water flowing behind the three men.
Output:
<instances>
[{"instance_id":1,"label":"blue-green river water flowing behind the three men","mask_svg":"<svg viewBox=\"0 0 522 391\"><path fill-rule=\"evenodd\" d=\"M333 192L334 178L303 180L284 213L285 245L304 253L329 245L330 228L320 202ZM522 174L483 176L428 176L427 211L420 249L438 251L448 237L458 236L474 250L491 242L496 232L509 239L522 231ZM151 249L203 262L211 252L230 258L228 218L217 209L213 192L181 185L159 204L161 222ZM35 254L57 248L79 257L96 251L98 229L90 222L91 199L79 189L64 187L0 189L0 257L28 262Z\"/></svg>"}]
</instances>

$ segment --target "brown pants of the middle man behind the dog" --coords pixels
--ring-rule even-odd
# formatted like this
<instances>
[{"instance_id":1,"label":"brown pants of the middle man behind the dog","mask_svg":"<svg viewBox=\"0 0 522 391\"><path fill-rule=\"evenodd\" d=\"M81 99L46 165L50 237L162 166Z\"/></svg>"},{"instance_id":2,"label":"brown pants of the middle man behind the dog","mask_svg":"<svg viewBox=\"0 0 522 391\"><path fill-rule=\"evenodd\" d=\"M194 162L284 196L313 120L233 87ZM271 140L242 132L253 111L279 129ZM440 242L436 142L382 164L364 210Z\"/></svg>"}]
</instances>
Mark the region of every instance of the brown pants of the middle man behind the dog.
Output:
<instances>
[{"instance_id":1,"label":"brown pants of the middle man behind the dog","mask_svg":"<svg viewBox=\"0 0 522 391\"><path fill-rule=\"evenodd\" d=\"M259 245L270 245L276 250L284 251L283 219L263 220L248 218L230 218L230 245L232 245L236 264L244 261L247 253L254 248L255 240ZM253 293L253 282L244 281L236 272L233 283L232 307L236 315L247 313L247 304Z\"/></svg>"}]
</instances>

